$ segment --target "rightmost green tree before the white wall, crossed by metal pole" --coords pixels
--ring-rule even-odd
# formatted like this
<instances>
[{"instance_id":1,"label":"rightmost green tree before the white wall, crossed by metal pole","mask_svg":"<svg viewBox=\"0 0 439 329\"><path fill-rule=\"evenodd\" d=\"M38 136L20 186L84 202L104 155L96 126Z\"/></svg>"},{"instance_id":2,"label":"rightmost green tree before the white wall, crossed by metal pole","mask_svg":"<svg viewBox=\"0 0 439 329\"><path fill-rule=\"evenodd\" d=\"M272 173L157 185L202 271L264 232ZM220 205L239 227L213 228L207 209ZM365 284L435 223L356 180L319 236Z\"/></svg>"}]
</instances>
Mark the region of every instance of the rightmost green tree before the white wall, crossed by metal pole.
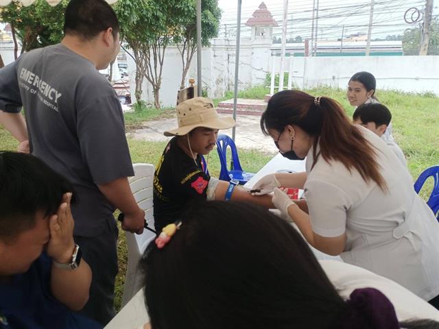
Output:
<instances>
[{"instance_id":1,"label":"rightmost green tree before the white wall, crossed by metal pole","mask_svg":"<svg viewBox=\"0 0 439 329\"><path fill-rule=\"evenodd\" d=\"M197 51L197 1L186 0L187 15L182 17L179 33L174 42L180 52L182 60L182 77L180 89L185 88L185 80L195 51ZM219 21L222 11L218 7L218 0L203 0L201 3L201 45L208 47L211 39L218 36ZM197 82L201 84L202 82Z\"/></svg>"}]
</instances>

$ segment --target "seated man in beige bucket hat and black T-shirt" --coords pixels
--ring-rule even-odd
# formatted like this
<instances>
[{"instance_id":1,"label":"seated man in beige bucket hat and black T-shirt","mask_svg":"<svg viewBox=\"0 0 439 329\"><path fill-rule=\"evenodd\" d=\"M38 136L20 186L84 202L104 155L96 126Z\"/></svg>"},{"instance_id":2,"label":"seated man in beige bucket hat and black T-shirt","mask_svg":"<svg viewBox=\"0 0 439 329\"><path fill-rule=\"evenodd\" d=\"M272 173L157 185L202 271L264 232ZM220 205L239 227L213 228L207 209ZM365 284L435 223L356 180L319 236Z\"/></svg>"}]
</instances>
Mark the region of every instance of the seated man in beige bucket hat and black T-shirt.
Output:
<instances>
[{"instance_id":1,"label":"seated man in beige bucket hat and black T-shirt","mask_svg":"<svg viewBox=\"0 0 439 329\"><path fill-rule=\"evenodd\" d=\"M232 199L273 208L270 196L252 196L236 184L212 178L202 164L201 156L215 147L218 130L234 127L235 120L219 117L213 101L204 97L183 101L176 112L178 128L164 132L174 138L167 144L154 173L157 232L176 221L189 202Z\"/></svg>"}]
</instances>

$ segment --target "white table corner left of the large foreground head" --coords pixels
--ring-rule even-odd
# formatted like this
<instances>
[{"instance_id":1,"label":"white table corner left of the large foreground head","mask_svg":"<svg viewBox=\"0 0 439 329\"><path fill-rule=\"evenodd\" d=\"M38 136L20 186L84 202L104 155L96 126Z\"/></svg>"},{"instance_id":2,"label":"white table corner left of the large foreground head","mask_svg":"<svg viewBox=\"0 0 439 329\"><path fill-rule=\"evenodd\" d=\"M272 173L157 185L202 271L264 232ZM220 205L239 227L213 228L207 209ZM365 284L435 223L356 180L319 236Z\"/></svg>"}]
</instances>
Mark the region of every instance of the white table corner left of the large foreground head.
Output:
<instances>
[{"instance_id":1,"label":"white table corner left of the large foreground head","mask_svg":"<svg viewBox=\"0 0 439 329\"><path fill-rule=\"evenodd\" d=\"M148 322L150 317L145 308L145 295L140 289L104 329L137 329Z\"/></svg>"}]
</instances>

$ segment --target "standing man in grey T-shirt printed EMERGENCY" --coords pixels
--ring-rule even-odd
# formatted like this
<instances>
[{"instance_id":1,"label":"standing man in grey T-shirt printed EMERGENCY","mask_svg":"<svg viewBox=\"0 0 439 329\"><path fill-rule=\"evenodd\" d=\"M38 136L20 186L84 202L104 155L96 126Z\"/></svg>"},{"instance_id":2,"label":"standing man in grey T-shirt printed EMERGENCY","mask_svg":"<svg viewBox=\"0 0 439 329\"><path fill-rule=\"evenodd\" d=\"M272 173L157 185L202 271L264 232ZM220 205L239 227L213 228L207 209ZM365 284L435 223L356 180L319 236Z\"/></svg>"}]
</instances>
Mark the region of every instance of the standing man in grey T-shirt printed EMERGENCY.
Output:
<instances>
[{"instance_id":1,"label":"standing man in grey T-shirt printed EMERGENCY","mask_svg":"<svg viewBox=\"0 0 439 329\"><path fill-rule=\"evenodd\" d=\"M84 313L102 324L113 315L117 274L112 213L119 208L123 229L137 233L145 215L128 184L134 173L121 105L97 71L119 52L118 31L104 0L72 0L60 44L29 51L0 70L1 121L12 134L23 135L23 106L32 154L73 183L75 241L93 270Z\"/></svg>"}]
</instances>

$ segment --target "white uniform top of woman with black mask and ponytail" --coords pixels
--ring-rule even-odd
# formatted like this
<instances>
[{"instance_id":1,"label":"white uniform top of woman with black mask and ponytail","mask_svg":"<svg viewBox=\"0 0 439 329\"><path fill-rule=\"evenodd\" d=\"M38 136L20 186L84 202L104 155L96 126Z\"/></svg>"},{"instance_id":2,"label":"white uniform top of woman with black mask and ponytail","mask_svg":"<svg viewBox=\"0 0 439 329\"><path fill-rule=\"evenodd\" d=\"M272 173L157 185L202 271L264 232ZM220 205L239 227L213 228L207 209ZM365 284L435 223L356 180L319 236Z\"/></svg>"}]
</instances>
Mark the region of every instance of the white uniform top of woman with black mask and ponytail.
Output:
<instances>
[{"instance_id":1,"label":"white uniform top of woman with black mask and ponytail","mask_svg":"<svg viewBox=\"0 0 439 329\"><path fill-rule=\"evenodd\" d=\"M418 197L407 168L385 142L359 126L377 149L377 162L388 191L365 182L338 161L307 155L305 197L311 226L320 236L346 232L346 263L390 278L424 300L439 295L439 223ZM333 141L337 143L337 141ZM317 149L317 153L320 150ZM359 159L361 160L361 159Z\"/></svg>"}]
</instances>

